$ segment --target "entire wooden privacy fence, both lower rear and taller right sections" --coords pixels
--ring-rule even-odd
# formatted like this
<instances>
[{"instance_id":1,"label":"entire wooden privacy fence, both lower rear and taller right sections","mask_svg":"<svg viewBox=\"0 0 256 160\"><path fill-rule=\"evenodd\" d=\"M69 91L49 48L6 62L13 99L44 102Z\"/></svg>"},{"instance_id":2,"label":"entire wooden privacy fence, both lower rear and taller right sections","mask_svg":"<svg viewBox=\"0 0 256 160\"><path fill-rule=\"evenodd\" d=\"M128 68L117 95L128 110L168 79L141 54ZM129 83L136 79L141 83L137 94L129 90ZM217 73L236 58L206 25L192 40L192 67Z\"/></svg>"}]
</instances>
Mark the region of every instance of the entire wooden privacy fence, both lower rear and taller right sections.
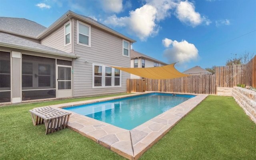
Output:
<instances>
[{"instance_id":1,"label":"entire wooden privacy fence, both lower rear and taller right sections","mask_svg":"<svg viewBox=\"0 0 256 160\"><path fill-rule=\"evenodd\" d=\"M256 88L256 56L245 65L215 67L214 75L192 75L168 80L128 79L127 92L217 94L217 87L245 84Z\"/></svg>"}]
</instances>

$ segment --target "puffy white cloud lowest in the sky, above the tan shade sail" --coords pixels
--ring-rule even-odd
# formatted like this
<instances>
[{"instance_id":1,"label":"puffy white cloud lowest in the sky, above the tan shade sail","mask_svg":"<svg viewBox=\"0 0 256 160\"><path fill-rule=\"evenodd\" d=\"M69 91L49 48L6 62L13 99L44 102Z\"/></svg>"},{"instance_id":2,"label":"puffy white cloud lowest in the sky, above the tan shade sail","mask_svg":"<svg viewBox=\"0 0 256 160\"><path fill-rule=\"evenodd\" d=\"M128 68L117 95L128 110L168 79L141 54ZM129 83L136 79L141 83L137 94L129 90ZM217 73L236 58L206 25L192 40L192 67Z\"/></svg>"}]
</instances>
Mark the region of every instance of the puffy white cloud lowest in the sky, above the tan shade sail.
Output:
<instances>
[{"instance_id":1,"label":"puffy white cloud lowest in the sky, above the tan shade sail","mask_svg":"<svg viewBox=\"0 0 256 160\"><path fill-rule=\"evenodd\" d=\"M179 62L178 65L180 65L190 62L190 60L197 60L199 57L198 50L194 44L188 43L186 40L178 42L165 38L162 42L164 44L166 44L165 42L171 42L172 45L170 48L164 50L164 57L167 58L168 63Z\"/></svg>"}]
</instances>

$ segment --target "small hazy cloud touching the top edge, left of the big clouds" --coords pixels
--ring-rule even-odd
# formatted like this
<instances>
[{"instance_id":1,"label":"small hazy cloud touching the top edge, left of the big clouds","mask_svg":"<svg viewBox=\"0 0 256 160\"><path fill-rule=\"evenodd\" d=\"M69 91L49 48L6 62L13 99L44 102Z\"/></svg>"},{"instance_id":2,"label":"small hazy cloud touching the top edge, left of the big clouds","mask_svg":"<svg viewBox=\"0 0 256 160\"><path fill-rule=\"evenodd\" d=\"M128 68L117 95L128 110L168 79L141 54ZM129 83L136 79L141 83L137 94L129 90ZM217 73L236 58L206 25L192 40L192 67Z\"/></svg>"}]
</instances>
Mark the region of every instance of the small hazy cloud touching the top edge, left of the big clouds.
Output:
<instances>
[{"instance_id":1,"label":"small hazy cloud touching the top edge, left of the big clouds","mask_svg":"<svg viewBox=\"0 0 256 160\"><path fill-rule=\"evenodd\" d=\"M119 13L122 11L122 0L101 0L105 12Z\"/></svg>"}]
</instances>

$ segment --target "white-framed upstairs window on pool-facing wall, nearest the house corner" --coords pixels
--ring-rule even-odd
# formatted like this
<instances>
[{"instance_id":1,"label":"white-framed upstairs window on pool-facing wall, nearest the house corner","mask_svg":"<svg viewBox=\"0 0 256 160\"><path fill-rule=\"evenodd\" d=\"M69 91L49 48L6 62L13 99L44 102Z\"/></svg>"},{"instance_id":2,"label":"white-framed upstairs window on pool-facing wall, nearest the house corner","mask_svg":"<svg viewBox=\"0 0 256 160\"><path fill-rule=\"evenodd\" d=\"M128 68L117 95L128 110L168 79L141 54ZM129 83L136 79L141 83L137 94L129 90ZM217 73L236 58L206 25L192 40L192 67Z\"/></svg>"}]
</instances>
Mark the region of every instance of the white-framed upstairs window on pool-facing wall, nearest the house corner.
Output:
<instances>
[{"instance_id":1,"label":"white-framed upstairs window on pool-facing wall, nearest the house corner","mask_svg":"<svg viewBox=\"0 0 256 160\"><path fill-rule=\"evenodd\" d=\"M91 26L77 21L77 44L91 47Z\"/></svg>"}]
</instances>

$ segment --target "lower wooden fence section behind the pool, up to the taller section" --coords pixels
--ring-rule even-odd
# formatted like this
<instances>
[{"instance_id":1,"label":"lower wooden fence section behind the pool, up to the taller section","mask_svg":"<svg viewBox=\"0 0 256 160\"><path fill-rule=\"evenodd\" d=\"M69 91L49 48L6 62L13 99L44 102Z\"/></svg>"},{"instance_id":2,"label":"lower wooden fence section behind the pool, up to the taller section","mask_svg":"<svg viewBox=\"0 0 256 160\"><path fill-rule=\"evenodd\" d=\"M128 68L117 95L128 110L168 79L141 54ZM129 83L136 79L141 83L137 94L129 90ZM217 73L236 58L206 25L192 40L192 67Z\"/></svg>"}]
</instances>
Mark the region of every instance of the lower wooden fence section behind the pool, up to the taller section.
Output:
<instances>
[{"instance_id":1,"label":"lower wooden fence section behind the pool, up to the taller section","mask_svg":"<svg viewBox=\"0 0 256 160\"><path fill-rule=\"evenodd\" d=\"M127 92L216 94L214 75L193 75L168 80L128 79Z\"/></svg>"}]
</instances>

